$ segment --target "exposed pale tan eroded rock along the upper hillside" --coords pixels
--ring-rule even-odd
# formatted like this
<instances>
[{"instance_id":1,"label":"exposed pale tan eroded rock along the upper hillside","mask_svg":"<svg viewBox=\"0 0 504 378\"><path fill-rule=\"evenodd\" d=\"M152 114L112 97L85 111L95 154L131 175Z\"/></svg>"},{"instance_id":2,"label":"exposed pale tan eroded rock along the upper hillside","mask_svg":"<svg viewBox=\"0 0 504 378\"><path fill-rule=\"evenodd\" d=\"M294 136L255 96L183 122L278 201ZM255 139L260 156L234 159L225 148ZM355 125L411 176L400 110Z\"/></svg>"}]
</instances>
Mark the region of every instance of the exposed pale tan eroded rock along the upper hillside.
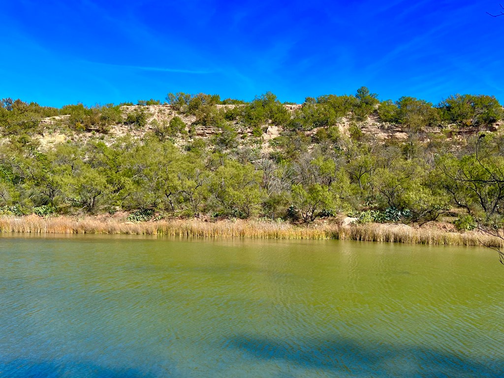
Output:
<instances>
[{"instance_id":1,"label":"exposed pale tan eroded rock along the upper hillside","mask_svg":"<svg viewBox=\"0 0 504 378\"><path fill-rule=\"evenodd\" d=\"M243 105L214 106L216 111L225 112L226 110L235 109ZM291 114L294 114L294 112L302 108L303 105L289 104L284 106ZM87 143L90 140L102 140L104 143L110 144L117 138L126 135L139 139L145 138L149 133L156 133L158 128L169 125L170 120L174 117L179 117L185 125L182 133L169 136L177 145L182 146L187 143L187 141L194 140L195 138L206 140L211 145L213 138L222 133L222 127L212 123L204 124L204 122L198 120L196 115L178 111L172 105L132 105L122 106L121 110L124 122L110 125L106 133L92 129L75 130L68 127L65 122L68 120L69 115L61 115L42 119L40 124L42 125L43 131L40 135L37 135L36 138L39 140L42 149L48 149L51 148L52 145L66 141ZM135 112L142 112L145 114L144 124L139 125L125 122L128 115ZM271 152L274 149L272 145L274 145L275 138L280 137L283 133L288 131L288 128L276 125L271 122L271 120L260 125L262 130L262 135L260 136L254 132L253 128L248 127L240 121L228 120L226 124L236 133L238 146L260 146L264 153ZM486 127L484 130L496 132L501 124L502 122L496 122ZM359 130L362 136L377 143L386 143L387 141L393 140L407 141L411 137L415 137L417 140L428 141L429 138L436 134L445 135L449 139L463 139L468 135L473 135L483 130L474 127L456 128L453 127L454 125L447 125L443 130L439 128L425 128L421 132L412 132L407 130L404 125L382 122L377 112L374 112L361 122L355 122L350 118L341 117L338 119L335 126L343 136L349 137L352 128L354 128L354 130ZM315 140L320 129L323 128L314 128L309 131L301 131L301 133Z\"/></svg>"}]
</instances>

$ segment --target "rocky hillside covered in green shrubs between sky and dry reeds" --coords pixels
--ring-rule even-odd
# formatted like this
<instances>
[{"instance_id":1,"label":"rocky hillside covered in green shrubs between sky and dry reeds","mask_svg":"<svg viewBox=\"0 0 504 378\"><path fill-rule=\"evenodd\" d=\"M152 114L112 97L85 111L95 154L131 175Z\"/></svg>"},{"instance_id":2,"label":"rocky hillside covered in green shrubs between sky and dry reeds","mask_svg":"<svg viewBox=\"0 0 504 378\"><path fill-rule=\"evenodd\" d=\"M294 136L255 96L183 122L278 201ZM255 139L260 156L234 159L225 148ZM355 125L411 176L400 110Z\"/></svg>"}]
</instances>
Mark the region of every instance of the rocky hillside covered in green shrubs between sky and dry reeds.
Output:
<instances>
[{"instance_id":1,"label":"rocky hillside covered in green shrubs between sky and dry reeds","mask_svg":"<svg viewBox=\"0 0 504 378\"><path fill-rule=\"evenodd\" d=\"M470 229L502 217L501 119L491 96L434 106L379 101L364 87L303 104L271 93L248 103L177 93L164 104L60 109L4 99L0 210L125 212L129 220L446 218Z\"/></svg>"}]
</instances>

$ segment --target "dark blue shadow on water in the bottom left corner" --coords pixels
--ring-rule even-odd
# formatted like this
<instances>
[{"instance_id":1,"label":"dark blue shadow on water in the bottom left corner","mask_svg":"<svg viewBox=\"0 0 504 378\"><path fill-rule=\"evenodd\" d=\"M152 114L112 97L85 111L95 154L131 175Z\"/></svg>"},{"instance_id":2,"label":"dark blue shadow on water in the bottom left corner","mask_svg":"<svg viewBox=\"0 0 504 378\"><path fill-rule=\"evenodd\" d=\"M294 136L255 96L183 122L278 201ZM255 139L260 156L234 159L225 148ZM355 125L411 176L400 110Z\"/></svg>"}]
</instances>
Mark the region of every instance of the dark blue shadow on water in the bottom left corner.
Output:
<instances>
[{"instance_id":1,"label":"dark blue shadow on water in the bottom left corner","mask_svg":"<svg viewBox=\"0 0 504 378\"><path fill-rule=\"evenodd\" d=\"M168 374L168 375L166 375ZM178 374L155 374L135 368L114 369L92 362L48 362L29 359L0 361L0 377L5 378L157 378Z\"/></svg>"}]
</instances>

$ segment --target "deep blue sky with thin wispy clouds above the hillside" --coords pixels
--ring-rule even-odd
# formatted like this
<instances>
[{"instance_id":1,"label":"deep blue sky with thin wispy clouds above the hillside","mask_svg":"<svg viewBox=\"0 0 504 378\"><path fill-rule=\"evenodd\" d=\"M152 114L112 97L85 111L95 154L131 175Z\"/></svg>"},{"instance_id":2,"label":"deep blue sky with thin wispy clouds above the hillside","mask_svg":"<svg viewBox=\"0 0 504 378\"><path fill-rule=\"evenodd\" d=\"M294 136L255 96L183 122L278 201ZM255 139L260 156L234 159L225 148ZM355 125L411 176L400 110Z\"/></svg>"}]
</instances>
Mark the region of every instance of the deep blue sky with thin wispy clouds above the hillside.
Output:
<instances>
[{"instance_id":1,"label":"deep blue sky with thin wispy clouds above the hillside","mask_svg":"<svg viewBox=\"0 0 504 378\"><path fill-rule=\"evenodd\" d=\"M17 0L0 11L0 98L62 106L456 94L504 102L498 1ZM502 10L504 11L504 10Z\"/></svg>"}]
</instances>

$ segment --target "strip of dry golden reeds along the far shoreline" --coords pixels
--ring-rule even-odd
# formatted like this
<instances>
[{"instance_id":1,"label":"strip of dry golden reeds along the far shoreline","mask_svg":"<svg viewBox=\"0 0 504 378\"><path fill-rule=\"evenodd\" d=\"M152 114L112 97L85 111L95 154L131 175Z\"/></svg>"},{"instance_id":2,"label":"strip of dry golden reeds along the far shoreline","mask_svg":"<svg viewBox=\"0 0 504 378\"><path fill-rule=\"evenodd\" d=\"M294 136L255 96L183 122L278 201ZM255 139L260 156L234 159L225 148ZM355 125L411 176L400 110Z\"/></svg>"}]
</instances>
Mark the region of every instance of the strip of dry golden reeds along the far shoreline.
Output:
<instances>
[{"instance_id":1,"label":"strip of dry golden reeds along the far shoreline","mask_svg":"<svg viewBox=\"0 0 504 378\"><path fill-rule=\"evenodd\" d=\"M0 217L0 232L149 234L179 237L249 237L263 239L341 239L437 245L503 245L502 240L480 232L446 232L395 224L292 225L267 221L217 221L198 219L160 222L121 222L95 217L42 218L36 215Z\"/></svg>"}]
</instances>

